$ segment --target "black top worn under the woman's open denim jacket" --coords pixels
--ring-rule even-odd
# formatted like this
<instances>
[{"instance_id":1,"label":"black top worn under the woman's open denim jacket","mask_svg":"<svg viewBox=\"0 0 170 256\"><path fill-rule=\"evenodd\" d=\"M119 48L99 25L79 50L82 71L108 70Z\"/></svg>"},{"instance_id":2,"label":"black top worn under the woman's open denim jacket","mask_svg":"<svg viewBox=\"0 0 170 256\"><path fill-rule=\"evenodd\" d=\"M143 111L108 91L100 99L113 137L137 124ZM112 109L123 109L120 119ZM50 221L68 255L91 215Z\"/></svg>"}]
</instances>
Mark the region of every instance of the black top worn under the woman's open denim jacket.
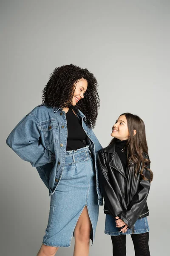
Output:
<instances>
[{"instance_id":1,"label":"black top worn under the woman's open denim jacket","mask_svg":"<svg viewBox=\"0 0 170 256\"><path fill-rule=\"evenodd\" d=\"M65 114L67 119L67 148L66 150L77 150L87 145L85 131L80 124L79 118L74 114L71 108Z\"/></svg>"}]
</instances>

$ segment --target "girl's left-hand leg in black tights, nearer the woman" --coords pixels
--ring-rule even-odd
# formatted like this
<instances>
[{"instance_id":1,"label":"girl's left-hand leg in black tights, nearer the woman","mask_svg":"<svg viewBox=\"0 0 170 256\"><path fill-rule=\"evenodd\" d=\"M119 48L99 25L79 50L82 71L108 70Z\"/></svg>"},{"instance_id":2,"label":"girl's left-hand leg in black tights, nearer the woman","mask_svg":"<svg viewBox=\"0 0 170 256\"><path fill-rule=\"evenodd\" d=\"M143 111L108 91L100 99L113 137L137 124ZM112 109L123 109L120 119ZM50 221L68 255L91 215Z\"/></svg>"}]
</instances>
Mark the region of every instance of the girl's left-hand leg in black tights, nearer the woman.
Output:
<instances>
[{"instance_id":1,"label":"girl's left-hand leg in black tights, nearer the woman","mask_svg":"<svg viewBox=\"0 0 170 256\"><path fill-rule=\"evenodd\" d=\"M111 236L113 256L126 256L126 235Z\"/></svg>"}]
</instances>

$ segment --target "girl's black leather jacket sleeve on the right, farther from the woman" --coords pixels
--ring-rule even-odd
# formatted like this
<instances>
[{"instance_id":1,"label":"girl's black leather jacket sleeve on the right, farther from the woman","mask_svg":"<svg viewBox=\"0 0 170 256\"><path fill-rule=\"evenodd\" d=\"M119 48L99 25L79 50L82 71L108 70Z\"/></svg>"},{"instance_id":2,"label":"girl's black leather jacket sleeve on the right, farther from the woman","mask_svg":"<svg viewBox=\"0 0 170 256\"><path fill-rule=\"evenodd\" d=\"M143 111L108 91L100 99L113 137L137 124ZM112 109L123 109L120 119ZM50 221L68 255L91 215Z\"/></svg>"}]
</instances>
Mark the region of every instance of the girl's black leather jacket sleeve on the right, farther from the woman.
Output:
<instances>
[{"instance_id":1,"label":"girl's black leather jacket sleeve on the right, farther from the woman","mask_svg":"<svg viewBox=\"0 0 170 256\"><path fill-rule=\"evenodd\" d=\"M149 169L150 165L148 165L147 168ZM133 224L135 224L139 218L139 215L142 212L144 205L146 204L147 196L150 190L150 171L145 168L143 170L143 174L145 177L147 177L147 180L143 180L142 177L140 177L139 190L133 196L128 210L118 215L119 218L121 218L129 228L132 228Z\"/></svg>"}]
</instances>

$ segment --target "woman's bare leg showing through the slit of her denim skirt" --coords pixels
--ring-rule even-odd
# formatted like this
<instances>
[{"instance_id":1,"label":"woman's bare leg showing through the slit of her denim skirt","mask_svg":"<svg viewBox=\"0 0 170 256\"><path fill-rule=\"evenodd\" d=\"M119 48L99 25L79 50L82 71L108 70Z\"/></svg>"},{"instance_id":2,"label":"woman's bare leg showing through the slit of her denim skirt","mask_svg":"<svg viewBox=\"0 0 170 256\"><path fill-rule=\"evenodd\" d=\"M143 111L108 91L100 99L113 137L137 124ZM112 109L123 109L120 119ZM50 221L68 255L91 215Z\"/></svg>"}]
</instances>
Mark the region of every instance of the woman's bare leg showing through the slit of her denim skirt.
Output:
<instances>
[{"instance_id":1,"label":"woman's bare leg showing through the slit of her denim skirt","mask_svg":"<svg viewBox=\"0 0 170 256\"><path fill-rule=\"evenodd\" d=\"M91 229L91 220L87 206L85 206L74 230L74 256L88 256Z\"/></svg>"}]
</instances>

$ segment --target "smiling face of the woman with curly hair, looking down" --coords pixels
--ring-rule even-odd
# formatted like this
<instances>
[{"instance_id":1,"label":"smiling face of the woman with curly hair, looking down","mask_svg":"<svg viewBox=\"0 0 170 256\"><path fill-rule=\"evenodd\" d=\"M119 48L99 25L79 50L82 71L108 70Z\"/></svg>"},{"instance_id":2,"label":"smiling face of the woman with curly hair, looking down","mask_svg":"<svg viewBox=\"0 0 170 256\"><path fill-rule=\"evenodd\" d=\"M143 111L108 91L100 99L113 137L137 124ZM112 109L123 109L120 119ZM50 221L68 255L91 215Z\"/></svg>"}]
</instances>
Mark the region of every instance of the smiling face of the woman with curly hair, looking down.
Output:
<instances>
[{"instance_id":1,"label":"smiling face of the woman with curly hair, looking down","mask_svg":"<svg viewBox=\"0 0 170 256\"><path fill-rule=\"evenodd\" d=\"M88 87L88 82L84 78L81 78L76 83L75 93L72 99L72 106L75 106L79 100L84 98L84 93Z\"/></svg>"}]
</instances>

